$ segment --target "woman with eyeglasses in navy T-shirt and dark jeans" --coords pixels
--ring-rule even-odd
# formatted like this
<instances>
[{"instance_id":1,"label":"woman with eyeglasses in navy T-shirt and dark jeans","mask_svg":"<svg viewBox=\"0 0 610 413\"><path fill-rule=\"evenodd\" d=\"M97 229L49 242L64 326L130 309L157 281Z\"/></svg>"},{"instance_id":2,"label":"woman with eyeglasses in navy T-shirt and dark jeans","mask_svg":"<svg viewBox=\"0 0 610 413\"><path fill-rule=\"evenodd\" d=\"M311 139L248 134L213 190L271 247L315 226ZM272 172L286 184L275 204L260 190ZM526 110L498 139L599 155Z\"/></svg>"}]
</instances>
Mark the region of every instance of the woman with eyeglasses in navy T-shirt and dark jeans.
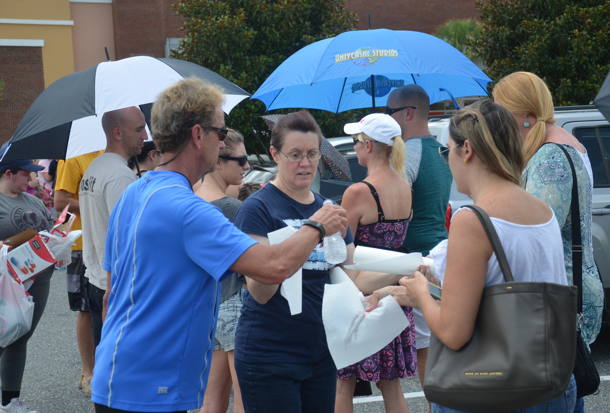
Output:
<instances>
[{"instance_id":1,"label":"woman with eyeglasses in navy T-shirt and dark jeans","mask_svg":"<svg viewBox=\"0 0 610 413\"><path fill-rule=\"evenodd\" d=\"M320 145L320 127L309 112L278 120L270 148L278 164L276 178L243 201L235 226L266 245L267 234L285 226L316 228L308 220L325 201L310 190ZM317 229L321 241L324 230ZM349 230L344 240L353 248ZM320 242L303 265L302 312L295 315L279 285L246 278L248 292L235 335L235 370L246 412L334 411L337 368L322 323L322 296L331 267Z\"/></svg>"}]
</instances>

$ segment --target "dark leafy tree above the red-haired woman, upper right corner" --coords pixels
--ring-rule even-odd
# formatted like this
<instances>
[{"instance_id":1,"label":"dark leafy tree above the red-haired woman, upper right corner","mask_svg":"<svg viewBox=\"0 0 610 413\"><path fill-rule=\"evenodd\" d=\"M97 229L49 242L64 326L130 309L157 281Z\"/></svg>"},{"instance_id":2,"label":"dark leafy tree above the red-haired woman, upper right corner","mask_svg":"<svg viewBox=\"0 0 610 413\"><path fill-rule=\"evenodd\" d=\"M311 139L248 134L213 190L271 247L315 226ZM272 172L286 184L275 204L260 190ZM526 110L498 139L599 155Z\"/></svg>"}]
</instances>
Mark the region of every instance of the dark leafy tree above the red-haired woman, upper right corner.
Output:
<instances>
[{"instance_id":1,"label":"dark leafy tree above the red-haired woman, upper right corner","mask_svg":"<svg viewBox=\"0 0 610 413\"><path fill-rule=\"evenodd\" d=\"M542 77L557 106L589 104L610 70L610 1L478 0L483 21L470 47L498 81Z\"/></svg>"}]
</instances>

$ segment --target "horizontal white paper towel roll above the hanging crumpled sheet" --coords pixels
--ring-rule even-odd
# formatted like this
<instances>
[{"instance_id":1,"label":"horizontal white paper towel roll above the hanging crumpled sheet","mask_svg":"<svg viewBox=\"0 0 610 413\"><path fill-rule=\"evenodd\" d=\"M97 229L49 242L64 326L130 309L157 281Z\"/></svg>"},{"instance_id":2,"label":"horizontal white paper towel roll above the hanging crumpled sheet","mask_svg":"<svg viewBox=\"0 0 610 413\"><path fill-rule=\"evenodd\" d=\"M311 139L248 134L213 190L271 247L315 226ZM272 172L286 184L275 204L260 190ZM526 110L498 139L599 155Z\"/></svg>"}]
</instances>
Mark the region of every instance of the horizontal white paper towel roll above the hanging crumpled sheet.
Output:
<instances>
[{"instance_id":1,"label":"horizontal white paper towel roll above the hanging crumpled sheet","mask_svg":"<svg viewBox=\"0 0 610 413\"><path fill-rule=\"evenodd\" d=\"M351 270L375 271L379 273L412 275L420 265L429 265L435 276L434 260L422 257L421 253L403 254L397 251L379 250L359 245L354 251L354 265L345 265Z\"/></svg>"}]
</instances>

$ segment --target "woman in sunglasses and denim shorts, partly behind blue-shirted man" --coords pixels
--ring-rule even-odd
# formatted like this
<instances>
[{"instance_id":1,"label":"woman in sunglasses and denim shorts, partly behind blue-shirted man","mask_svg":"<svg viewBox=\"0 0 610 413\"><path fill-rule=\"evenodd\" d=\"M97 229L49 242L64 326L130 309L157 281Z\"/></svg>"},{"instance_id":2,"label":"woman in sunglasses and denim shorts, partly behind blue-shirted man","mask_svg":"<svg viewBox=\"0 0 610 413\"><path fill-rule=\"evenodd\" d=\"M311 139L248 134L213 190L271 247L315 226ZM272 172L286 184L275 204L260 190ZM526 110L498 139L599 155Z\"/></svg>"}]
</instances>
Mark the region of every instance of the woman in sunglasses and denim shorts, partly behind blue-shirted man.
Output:
<instances>
[{"instance_id":1,"label":"woman in sunglasses and denim shorts, partly behind blue-shirted man","mask_svg":"<svg viewBox=\"0 0 610 413\"><path fill-rule=\"evenodd\" d=\"M223 142L224 149L218 153L216 169L204 176L201 185L195 190L195 195L217 206L232 222L242 201L227 196L225 191L229 185L238 185L242 182L243 174L249 170L250 165L243 145L243 135L239 131L229 129ZM226 412L229 408L231 387L234 393L233 411L243 412L233 352L235 327L245 292L246 280L241 274L233 273L222 282L210 378L207 381L201 413Z\"/></svg>"}]
</instances>

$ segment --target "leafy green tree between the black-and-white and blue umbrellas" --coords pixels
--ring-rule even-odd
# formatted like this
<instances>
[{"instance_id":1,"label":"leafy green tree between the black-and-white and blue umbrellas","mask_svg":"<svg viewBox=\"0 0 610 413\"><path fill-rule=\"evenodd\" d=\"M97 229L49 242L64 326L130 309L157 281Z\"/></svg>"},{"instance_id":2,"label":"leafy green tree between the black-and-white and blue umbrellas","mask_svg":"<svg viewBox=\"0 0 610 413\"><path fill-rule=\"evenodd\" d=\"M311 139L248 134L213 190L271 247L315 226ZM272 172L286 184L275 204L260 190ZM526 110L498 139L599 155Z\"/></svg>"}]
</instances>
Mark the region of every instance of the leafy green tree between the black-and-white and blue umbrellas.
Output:
<instances>
[{"instance_id":1,"label":"leafy green tree between the black-and-white and blue umbrellas","mask_svg":"<svg viewBox=\"0 0 610 413\"><path fill-rule=\"evenodd\" d=\"M285 59L304 46L356 29L356 15L343 0L182 0L173 5L182 16L184 39L172 52L197 63L246 92L254 93ZM273 111L273 113L287 110ZM343 121L357 113L312 110L326 136L343 135ZM259 100L242 101L227 118L243 132L246 147L268 153L270 131ZM340 132L339 132L340 123Z\"/></svg>"}]
</instances>

